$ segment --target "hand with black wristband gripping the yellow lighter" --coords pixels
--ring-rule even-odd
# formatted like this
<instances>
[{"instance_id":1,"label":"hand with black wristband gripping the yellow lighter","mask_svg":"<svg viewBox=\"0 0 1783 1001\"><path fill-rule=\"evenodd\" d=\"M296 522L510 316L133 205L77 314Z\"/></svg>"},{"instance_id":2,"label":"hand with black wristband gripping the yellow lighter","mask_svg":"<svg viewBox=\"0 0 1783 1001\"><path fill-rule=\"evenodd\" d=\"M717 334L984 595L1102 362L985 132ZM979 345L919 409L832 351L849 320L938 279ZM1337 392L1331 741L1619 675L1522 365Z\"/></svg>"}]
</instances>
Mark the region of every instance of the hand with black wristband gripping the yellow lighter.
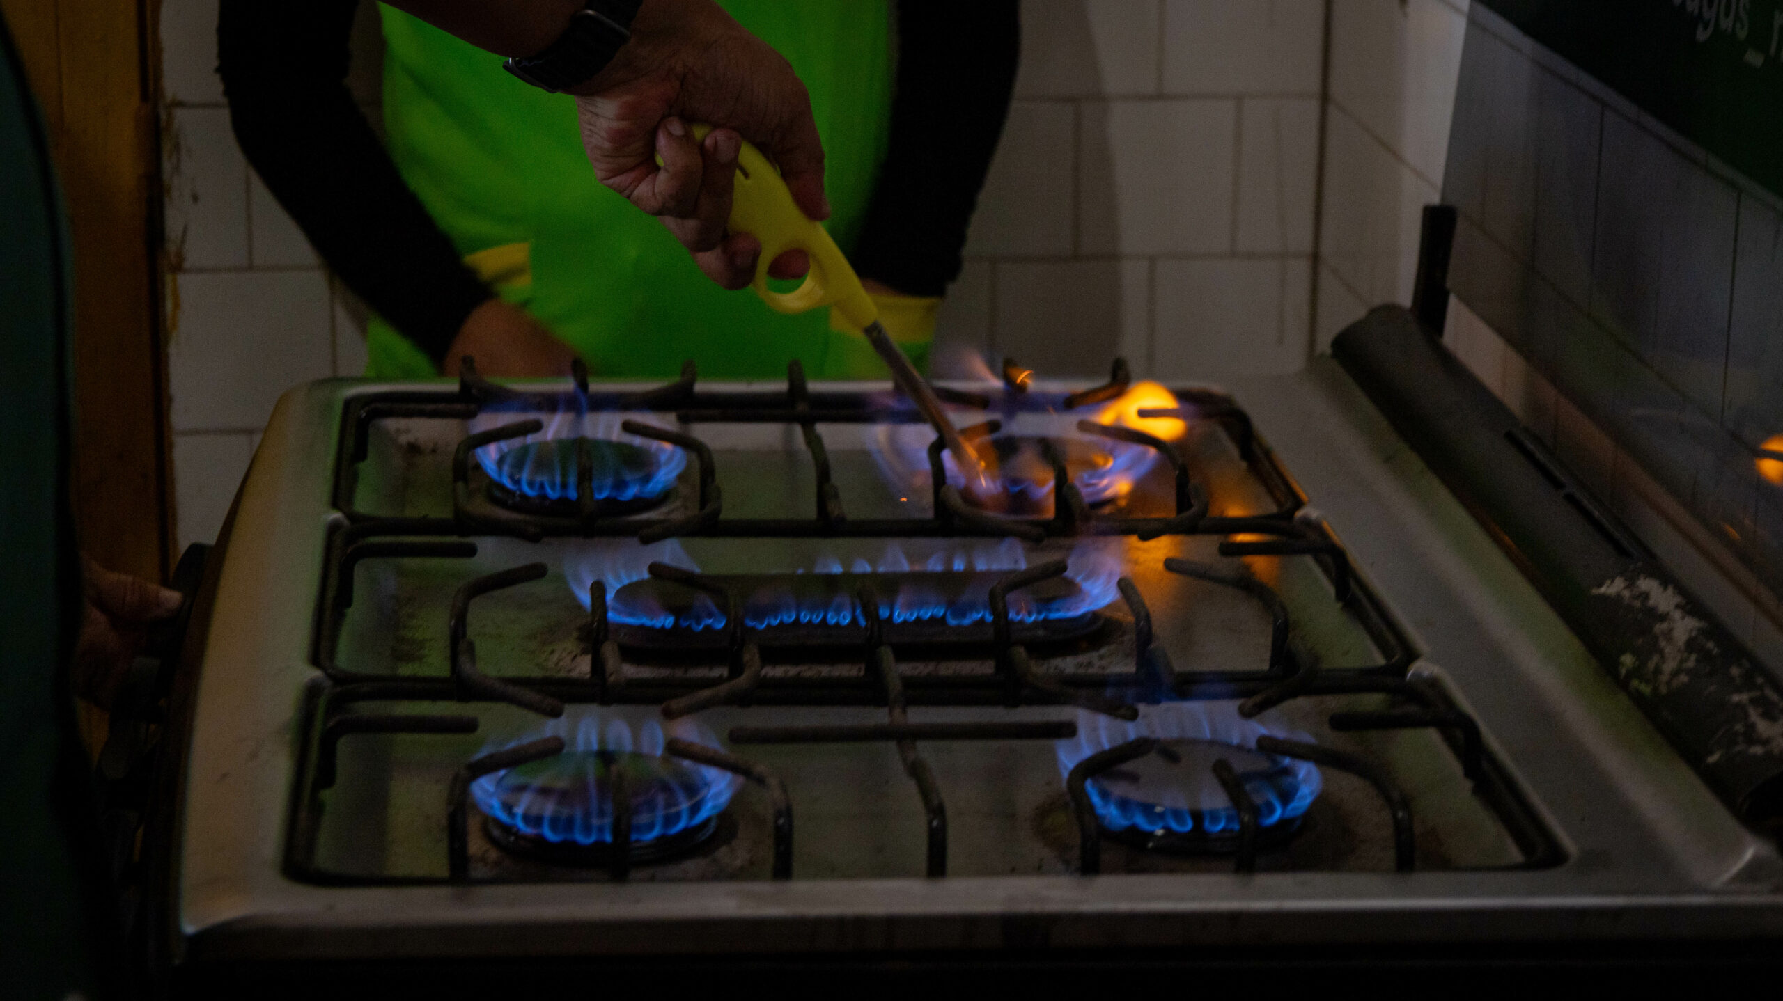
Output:
<instances>
[{"instance_id":1,"label":"hand with black wristband gripping the yellow lighter","mask_svg":"<svg viewBox=\"0 0 1783 1001\"><path fill-rule=\"evenodd\" d=\"M806 216L829 217L824 144L804 84L711 0L645 0L631 41L572 93L601 183L663 217L701 271L726 289L749 285L761 256L754 237L726 233L742 139L774 159ZM697 141L690 121L715 128ZM806 255L792 251L774 260L770 274L799 278L808 269Z\"/></svg>"}]
</instances>

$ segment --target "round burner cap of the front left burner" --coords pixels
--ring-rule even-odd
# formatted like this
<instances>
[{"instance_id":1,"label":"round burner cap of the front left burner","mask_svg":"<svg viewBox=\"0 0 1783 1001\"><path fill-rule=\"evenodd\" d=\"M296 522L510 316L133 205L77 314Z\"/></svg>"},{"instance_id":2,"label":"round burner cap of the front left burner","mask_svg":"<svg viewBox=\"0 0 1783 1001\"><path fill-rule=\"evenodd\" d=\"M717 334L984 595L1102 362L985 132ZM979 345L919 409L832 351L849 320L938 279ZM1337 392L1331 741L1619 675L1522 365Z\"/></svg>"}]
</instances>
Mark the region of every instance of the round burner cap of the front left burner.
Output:
<instances>
[{"instance_id":1,"label":"round burner cap of the front left burner","mask_svg":"<svg viewBox=\"0 0 1783 1001\"><path fill-rule=\"evenodd\" d=\"M719 828L735 780L674 757L624 750L571 750L472 785L490 839L555 864L612 857L613 787L624 778L631 857L661 860L701 846Z\"/></svg>"}]
</instances>

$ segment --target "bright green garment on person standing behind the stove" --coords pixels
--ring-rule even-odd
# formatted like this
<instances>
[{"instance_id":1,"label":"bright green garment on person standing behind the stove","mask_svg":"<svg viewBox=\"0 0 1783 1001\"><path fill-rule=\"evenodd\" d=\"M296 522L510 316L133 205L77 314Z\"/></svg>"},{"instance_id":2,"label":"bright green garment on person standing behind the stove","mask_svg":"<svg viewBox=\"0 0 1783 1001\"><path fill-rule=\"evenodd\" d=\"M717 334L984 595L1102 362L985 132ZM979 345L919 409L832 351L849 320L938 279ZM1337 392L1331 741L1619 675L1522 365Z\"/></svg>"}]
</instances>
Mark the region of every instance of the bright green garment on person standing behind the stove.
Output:
<instances>
[{"instance_id":1,"label":"bright green garment on person standing behind the stove","mask_svg":"<svg viewBox=\"0 0 1783 1001\"><path fill-rule=\"evenodd\" d=\"M779 50L811 93L824 139L831 233L849 249L884 159L892 110L886 0L722 0ZM583 153L576 102L514 78L501 61L383 7L390 157L464 255L526 244L530 281L499 287L569 342L594 374L669 378L694 358L710 378L813 376L870 363L827 310L788 317L727 292L663 224L603 187ZM367 374L435 376L387 324L367 331Z\"/></svg>"}]
</instances>

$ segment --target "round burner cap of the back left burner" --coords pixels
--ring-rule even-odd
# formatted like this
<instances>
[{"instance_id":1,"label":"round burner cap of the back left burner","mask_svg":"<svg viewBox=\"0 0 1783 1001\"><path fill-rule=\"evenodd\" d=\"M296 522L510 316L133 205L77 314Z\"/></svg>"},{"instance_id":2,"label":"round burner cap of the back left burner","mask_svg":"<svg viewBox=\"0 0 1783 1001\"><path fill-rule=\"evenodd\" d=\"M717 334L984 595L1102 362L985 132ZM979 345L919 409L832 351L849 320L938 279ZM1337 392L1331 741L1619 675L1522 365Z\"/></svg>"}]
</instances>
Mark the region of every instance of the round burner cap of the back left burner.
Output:
<instances>
[{"instance_id":1,"label":"round burner cap of the back left burner","mask_svg":"<svg viewBox=\"0 0 1783 1001\"><path fill-rule=\"evenodd\" d=\"M653 451L610 438L521 442L494 456L480 456L494 481L490 497L524 513L572 513L579 502L578 463L583 444L592 467L594 499L603 515L661 504L686 461L678 451Z\"/></svg>"}]
</instances>

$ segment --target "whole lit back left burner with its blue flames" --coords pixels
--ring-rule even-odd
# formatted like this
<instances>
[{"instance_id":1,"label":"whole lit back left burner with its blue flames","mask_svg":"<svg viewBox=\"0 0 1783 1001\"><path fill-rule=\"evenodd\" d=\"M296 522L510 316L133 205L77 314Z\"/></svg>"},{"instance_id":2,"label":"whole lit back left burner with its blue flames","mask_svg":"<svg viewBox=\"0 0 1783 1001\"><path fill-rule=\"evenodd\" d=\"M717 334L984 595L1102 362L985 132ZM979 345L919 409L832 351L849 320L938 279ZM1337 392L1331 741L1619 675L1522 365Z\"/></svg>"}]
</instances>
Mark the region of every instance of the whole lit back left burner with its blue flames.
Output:
<instances>
[{"instance_id":1,"label":"whole lit back left burner with its blue flames","mask_svg":"<svg viewBox=\"0 0 1783 1001\"><path fill-rule=\"evenodd\" d=\"M476 451L489 474L490 497L521 511L560 513L579 499L581 451L588 451L590 484L601 513L656 506L686 467L681 449L620 431L620 413L489 413L472 431L538 417L544 431Z\"/></svg>"}]
</instances>

